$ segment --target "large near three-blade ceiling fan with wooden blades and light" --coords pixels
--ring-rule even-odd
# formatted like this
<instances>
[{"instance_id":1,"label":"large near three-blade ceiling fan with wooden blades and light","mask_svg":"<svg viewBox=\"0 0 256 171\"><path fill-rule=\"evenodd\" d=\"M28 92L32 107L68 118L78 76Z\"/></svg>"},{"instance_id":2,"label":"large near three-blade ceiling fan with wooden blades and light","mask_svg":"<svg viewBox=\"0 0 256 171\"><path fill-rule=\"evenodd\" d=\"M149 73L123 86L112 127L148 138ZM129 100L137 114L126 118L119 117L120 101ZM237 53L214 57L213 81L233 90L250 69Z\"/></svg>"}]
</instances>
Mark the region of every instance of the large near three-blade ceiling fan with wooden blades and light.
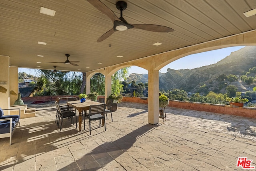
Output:
<instances>
[{"instance_id":1,"label":"large near three-blade ceiling fan with wooden blades and light","mask_svg":"<svg viewBox=\"0 0 256 171\"><path fill-rule=\"evenodd\" d=\"M108 16L112 22L114 23L114 27L103 34L100 38L98 38L97 42L101 42L111 36L116 31L125 31L130 28L137 28L142 30L147 30L151 32L173 32L172 28L166 26L160 26L155 24L128 24L126 20L123 18L123 10L127 8L127 3L124 1L116 2L116 8L120 10L120 18L114 14L105 4L100 2L99 0L87 0L92 6L100 10L103 14Z\"/></svg>"}]
</instances>

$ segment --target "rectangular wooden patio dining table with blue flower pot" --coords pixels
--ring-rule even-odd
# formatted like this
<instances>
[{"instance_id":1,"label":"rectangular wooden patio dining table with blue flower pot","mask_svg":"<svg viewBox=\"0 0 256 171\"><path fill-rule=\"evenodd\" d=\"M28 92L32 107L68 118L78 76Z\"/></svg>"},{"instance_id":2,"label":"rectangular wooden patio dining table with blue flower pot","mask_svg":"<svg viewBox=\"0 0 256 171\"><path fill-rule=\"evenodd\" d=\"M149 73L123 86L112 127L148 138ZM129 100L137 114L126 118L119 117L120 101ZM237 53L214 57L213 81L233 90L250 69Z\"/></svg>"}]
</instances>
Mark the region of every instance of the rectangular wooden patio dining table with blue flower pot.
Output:
<instances>
[{"instance_id":1,"label":"rectangular wooden patio dining table with blue flower pot","mask_svg":"<svg viewBox=\"0 0 256 171\"><path fill-rule=\"evenodd\" d=\"M79 131L81 131L82 129L82 111L86 111L90 109L90 105L100 105L102 103L96 102L96 101L92 101L92 100L88 100L86 99L85 102L82 102L80 100L76 100L76 101L67 101L67 105L70 107L73 107L75 109L78 110L79 112ZM102 124L104 125L104 123Z\"/></svg>"}]
</instances>

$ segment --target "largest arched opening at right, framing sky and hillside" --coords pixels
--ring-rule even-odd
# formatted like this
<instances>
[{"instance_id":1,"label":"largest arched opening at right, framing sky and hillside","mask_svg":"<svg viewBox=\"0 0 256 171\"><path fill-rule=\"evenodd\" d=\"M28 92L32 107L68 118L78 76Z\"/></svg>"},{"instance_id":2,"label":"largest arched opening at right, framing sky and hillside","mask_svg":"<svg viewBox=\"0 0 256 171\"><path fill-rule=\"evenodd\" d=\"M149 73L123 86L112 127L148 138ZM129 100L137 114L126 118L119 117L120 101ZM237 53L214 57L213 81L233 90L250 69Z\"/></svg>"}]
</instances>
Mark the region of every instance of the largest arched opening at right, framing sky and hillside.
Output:
<instances>
[{"instance_id":1,"label":"largest arched opening at right, framing sky and hillside","mask_svg":"<svg viewBox=\"0 0 256 171\"><path fill-rule=\"evenodd\" d=\"M256 46L236 46L179 58L160 70L159 89L181 101L229 104L226 97L241 97L254 102L255 53Z\"/></svg>"}]
</instances>

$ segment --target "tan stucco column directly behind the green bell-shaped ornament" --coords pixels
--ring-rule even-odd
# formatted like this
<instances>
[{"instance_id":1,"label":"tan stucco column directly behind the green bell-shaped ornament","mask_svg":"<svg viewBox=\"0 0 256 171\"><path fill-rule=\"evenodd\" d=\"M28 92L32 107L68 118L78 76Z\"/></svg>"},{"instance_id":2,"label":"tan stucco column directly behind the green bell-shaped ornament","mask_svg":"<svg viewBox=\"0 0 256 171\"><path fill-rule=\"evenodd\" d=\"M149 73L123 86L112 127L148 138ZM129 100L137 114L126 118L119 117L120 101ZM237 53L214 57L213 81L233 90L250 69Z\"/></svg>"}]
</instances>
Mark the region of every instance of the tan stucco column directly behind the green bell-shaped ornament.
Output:
<instances>
[{"instance_id":1,"label":"tan stucco column directly behind the green bell-shaped ornament","mask_svg":"<svg viewBox=\"0 0 256 171\"><path fill-rule=\"evenodd\" d=\"M15 100L18 99L19 83L18 83L18 67L10 67L10 105L14 105ZM14 94L16 93L16 94Z\"/></svg>"}]
</instances>

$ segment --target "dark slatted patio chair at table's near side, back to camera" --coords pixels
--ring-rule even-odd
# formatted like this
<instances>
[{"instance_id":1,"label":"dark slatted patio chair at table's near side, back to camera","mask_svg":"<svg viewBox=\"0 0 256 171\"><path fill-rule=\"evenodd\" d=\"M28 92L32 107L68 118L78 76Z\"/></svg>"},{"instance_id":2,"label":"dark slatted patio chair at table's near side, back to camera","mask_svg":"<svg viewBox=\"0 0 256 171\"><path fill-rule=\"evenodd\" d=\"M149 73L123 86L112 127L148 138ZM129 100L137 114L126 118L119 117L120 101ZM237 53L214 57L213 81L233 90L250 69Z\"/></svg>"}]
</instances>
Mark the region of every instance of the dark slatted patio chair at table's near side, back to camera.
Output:
<instances>
[{"instance_id":1,"label":"dark slatted patio chair at table's near side, back to camera","mask_svg":"<svg viewBox=\"0 0 256 171\"><path fill-rule=\"evenodd\" d=\"M89 119L89 128L90 128L90 135L91 135L91 121L104 119L104 127L106 131L106 121L104 117L106 109L106 104L100 104L100 105L90 105L89 113L88 113L88 119ZM84 130L85 130L85 116L84 116Z\"/></svg>"}]
</instances>

